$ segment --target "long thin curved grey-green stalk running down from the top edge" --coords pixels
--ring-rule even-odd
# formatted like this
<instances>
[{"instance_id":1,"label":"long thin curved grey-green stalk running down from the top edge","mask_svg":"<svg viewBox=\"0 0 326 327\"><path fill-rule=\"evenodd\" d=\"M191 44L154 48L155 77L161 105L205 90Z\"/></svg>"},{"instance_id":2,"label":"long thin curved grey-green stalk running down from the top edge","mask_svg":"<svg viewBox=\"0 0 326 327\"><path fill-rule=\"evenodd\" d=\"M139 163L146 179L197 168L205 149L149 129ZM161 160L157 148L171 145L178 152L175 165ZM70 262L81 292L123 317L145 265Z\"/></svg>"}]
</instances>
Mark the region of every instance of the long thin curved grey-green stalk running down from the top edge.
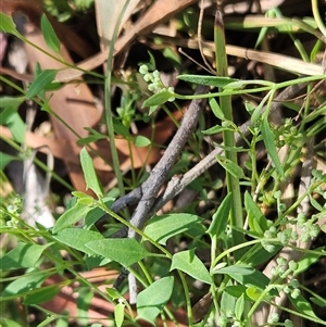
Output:
<instances>
[{"instance_id":1,"label":"long thin curved grey-green stalk running down from the top edge","mask_svg":"<svg viewBox=\"0 0 326 327\"><path fill-rule=\"evenodd\" d=\"M122 12L117 18L113 36L110 42L110 51L106 61L106 74L105 74L105 83L104 83L104 100L105 100L105 122L108 134L110 138L110 149L113 162L113 171L117 180L117 187L120 190L120 196L123 197L125 194L124 183L123 183L123 175L120 171L120 161L117 155L117 150L115 146L115 138L114 138L114 126L113 126L113 113L111 106L111 83L112 83L112 64L113 64L113 54L114 54L114 43L117 38L118 27L121 25L123 15L129 4L130 0L126 0Z\"/></svg>"}]
</instances>

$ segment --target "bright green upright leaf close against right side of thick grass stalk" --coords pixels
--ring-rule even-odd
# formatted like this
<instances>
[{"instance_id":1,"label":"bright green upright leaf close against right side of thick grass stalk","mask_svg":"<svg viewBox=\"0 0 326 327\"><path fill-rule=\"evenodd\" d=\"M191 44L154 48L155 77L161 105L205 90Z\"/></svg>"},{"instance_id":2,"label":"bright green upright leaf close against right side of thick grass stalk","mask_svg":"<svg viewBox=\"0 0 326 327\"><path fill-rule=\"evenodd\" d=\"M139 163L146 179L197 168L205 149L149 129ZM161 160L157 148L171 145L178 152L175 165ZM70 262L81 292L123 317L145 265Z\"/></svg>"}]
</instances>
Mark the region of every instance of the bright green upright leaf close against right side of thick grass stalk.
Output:
<instances>
[{"instance_id":1,"label":"bright green upright leaf close against right side of thick grass stalk","mask_svg":"<svg viewBox=\"0 0 326 327\"><path fill-rule=\"evenodd\" d=\"M248 214L248 224L252 231L260 236L268 229L268 223L266 217L262 214L260 207L252 200L250 193L246 191L244 193L244 207Z\"/></svg>"}]
</instances>

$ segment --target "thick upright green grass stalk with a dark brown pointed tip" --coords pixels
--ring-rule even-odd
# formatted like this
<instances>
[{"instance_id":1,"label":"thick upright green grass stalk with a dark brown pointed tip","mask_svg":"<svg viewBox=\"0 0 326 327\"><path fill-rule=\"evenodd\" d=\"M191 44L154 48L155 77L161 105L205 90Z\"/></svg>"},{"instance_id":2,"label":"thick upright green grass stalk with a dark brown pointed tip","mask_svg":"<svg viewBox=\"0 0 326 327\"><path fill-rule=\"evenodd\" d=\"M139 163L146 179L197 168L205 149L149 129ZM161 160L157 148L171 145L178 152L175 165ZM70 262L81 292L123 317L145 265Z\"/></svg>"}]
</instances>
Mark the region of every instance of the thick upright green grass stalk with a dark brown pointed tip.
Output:
<instances>
[{"instance_id":1,"label":"thick upright green grass stalk with a dark brown pointed tip","mask_svg":"<svg viewBox=\"0 0 326 327\"><path fill-rule=\"evenodd\" d=\"M214 26L214 39L215 39L215 56L216 56L216 72L218 76L227 77L227 58L225 51L225 35L224 35L224 23L222 13L216 12L215 26ZM220 90L222 91L222 90ZM233 122L233 110L231 110L231 97L225 96L220 97L220 106L227 121ZM238 164L237 152L236 152L236 140L235 131L225 130L223 131L223 141L225 146L225 156L230 160L234 164ZM239 178L233 176L229 172L226 172L227 191L231 193L231 226L237 229L243 228L242 217L242 201L240 193ZM234 246L240 244L244 241L243 234L233 229L233 241ZM243 252L243 251L240 251ZM235 259L239 259L242 254L239 252L235 253Z\"/></svg>"}]
</instances>

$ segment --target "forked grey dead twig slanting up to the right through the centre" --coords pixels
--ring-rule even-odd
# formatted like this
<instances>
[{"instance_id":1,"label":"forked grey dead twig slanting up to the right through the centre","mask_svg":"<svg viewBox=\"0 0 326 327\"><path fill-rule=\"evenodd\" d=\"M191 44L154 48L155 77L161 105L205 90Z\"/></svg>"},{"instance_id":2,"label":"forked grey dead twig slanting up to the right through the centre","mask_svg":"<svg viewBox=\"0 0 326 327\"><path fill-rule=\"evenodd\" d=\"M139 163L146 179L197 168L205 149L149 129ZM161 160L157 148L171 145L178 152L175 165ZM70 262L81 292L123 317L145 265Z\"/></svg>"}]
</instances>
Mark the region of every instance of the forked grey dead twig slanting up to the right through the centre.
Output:
<instances>
[{"instance_id":1,"label":"forked grey dead twig slanting up to the right through the centre","mask_svg":"<svg viewBox=\"0 0 326 327\"><path fill-rule=\"evenodd\" d=\"M305 85L293 85L283 90L272 103L271 112L280 110L283 101L296 98L303 89ZM199 86L196 93L205 93L209 91L208 87ZM117 199L111 206L111 210L118 212L128 205L134 205L137 202L138 205L130 223L137 228L142 228L145 223L151 218L166 202L179 194L191 181L198 176L209 169L212 165L217 163L216 155L224 153L223 147L214 149L204 159L202 159L195 167L180 177L174 176L167 184L165 190L159 194L160 189L165 183L166 175L176 162L180 154L185 143L195 130L198 122L198 117L204 105L205 100L192 100L189 110L186 112L181 122L180 128L168 144L165 153L160 162L153 168L150 177L137 189L133 190L128 194L121 199ZM243 136L250 135L251 122L248 121L239 127L239 133L236 133L237 146L241 143ZM125 237L124 232L121 237ZM128 231L128 237L137 237L135 230ZM130 302L136 301L136 279L134 275L129 275L129 291ZM133 302L131 302L133 303Z\"/></svg>"}]
</instances>

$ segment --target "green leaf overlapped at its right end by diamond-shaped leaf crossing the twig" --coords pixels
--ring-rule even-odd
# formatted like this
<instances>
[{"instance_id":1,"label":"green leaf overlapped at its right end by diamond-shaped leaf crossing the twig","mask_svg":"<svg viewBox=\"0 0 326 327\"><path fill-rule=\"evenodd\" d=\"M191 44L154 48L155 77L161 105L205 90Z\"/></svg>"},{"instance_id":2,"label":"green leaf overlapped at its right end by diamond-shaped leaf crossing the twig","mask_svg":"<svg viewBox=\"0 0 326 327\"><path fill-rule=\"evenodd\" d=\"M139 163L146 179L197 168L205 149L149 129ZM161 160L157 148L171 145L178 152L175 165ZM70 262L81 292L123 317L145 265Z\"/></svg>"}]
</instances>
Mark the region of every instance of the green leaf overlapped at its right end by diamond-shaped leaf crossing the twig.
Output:
<instances>
[{"instance_id":1,"label":"green leaf overlapped at its right end by diamond-shaped leaf crossing the twig","mask_svg":"<svg viewBox=\"0 0 326 327\"><path fill-rule=\"evenodd\" d=\"M65 228L54 235L53 238L88 255L93 255L96 253L85 244L90 241L104 239L102 234L100 234L99 231L86 230L82 228Z\"/></svg>"}]
</instances>

